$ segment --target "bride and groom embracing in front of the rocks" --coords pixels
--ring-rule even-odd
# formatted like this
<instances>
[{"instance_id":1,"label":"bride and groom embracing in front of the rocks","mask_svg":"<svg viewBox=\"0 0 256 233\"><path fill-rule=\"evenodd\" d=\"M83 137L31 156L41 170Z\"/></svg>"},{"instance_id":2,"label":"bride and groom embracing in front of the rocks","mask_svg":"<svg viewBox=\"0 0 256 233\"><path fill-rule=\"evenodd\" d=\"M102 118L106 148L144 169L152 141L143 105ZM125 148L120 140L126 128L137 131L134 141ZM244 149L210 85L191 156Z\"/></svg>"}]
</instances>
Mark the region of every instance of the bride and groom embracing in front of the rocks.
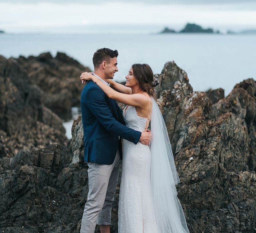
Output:
<instances>
[{"instance_id":1,"label":"bride and groom embracing in front of the rocks","mask_svg":"<svg viewBox=\"0 0 256 233\"><path fill-rule=\"evenodd\" d=\"M117 50L97 50L94 73L80 76L89 81L81 94L89 192L80 232L93 233L96 224L101 233L110 232L121 160L118 232L189 232L177 198L171 144L154 99L158 83L147 64L132 65L125 86L114 82L117 57ZM123 112L115 100L127 105Z\"/></svg>"}]
</instances>

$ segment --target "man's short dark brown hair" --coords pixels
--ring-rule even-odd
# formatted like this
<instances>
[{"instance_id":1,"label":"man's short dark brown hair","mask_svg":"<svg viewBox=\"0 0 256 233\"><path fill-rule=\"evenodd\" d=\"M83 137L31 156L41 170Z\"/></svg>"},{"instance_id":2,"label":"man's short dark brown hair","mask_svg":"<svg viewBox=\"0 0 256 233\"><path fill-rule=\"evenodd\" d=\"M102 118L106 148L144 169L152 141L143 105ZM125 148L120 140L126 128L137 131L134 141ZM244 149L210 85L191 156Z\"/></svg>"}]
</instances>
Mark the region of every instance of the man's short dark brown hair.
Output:
<instances>
[{"instance_id":1,"label":"man's short dark brown hair","mask_svg":"<svg viewBox=\"0 0 256 233\"><path fill-rule=\"evenodd\" d=\"M108 48L98 49L92 58L94 69L98 68L100 64L105 61L106 63L110 62L111 58L117 57L118 51Z\"/></svg>"}]
</instances>

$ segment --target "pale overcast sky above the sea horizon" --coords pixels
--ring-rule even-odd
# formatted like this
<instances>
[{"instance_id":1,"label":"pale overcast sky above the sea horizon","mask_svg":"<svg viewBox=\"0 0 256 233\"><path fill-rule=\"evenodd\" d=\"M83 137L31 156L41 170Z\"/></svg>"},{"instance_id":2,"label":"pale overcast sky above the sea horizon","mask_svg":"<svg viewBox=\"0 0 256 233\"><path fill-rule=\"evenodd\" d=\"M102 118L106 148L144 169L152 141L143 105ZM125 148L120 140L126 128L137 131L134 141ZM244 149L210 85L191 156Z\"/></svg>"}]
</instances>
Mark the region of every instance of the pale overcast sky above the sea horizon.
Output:
<instances>
[{"instance_id":1,"label":"pale overcast sky above the sea horizon","mask_svg":"<svg viewBox=\"0 0 256 233\"><path fill-rule=\"evenodd\" d=\"M256 29L256 0L0 0L0 9L0 30L9 33L118 31L120 25L154 32L163 26L180 30L187 22Z\"/></svg>"}]
</instances>

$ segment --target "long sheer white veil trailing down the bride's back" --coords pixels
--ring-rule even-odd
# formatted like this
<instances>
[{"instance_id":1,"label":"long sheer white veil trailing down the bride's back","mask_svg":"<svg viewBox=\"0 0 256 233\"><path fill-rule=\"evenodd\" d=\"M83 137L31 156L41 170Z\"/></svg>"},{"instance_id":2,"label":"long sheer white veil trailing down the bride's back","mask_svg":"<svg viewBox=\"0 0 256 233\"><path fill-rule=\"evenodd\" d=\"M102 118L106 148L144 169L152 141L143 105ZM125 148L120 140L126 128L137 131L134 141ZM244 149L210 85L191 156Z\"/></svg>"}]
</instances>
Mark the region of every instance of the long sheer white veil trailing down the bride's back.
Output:
<instances>
[{"instance_id":1,"label":"long sheer white veil trailing down the bride's back","mask_svg":"<svg viewBox=\"0 0 256 233\"><path fill-rule=\"evenodd\" d=\"M174 164L171 143L160 109L153 98L151 114L150 179L156 222L160 233L189 232L186 219L177 197L175 184L179 176Z\"/></svg>"}]
</instances>

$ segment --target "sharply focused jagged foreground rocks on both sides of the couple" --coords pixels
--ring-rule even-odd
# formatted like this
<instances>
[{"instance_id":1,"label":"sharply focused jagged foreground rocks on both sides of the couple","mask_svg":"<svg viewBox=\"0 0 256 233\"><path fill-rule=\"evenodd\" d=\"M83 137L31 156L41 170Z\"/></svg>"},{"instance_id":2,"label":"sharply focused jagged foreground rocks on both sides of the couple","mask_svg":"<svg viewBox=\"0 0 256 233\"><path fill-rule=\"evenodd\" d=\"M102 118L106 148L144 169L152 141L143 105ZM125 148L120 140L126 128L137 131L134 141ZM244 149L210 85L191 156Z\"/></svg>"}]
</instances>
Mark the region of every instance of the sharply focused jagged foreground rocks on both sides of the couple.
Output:
<instances>
[{"instance_id":1,"label":"sharply focused jagged foreground rocks on both sides of the couple","mask_svg":"<svg viewBox=\"0 0 256 233\"><path fill-rule=\"evenodd\" d=\"M255 81L243 81L212 105L205 92L193 92L186 72L174 62L156 76L190 232L255 232L256 173L250 169L250 158L255 159L255 147L250 148L255 143ZM82 158L78 117L68 146L32 147L2 159L0 231L79 232L88 192ZM118 193L119 187L112 232L117 232Z\"/></svg>"}]
</instances>

